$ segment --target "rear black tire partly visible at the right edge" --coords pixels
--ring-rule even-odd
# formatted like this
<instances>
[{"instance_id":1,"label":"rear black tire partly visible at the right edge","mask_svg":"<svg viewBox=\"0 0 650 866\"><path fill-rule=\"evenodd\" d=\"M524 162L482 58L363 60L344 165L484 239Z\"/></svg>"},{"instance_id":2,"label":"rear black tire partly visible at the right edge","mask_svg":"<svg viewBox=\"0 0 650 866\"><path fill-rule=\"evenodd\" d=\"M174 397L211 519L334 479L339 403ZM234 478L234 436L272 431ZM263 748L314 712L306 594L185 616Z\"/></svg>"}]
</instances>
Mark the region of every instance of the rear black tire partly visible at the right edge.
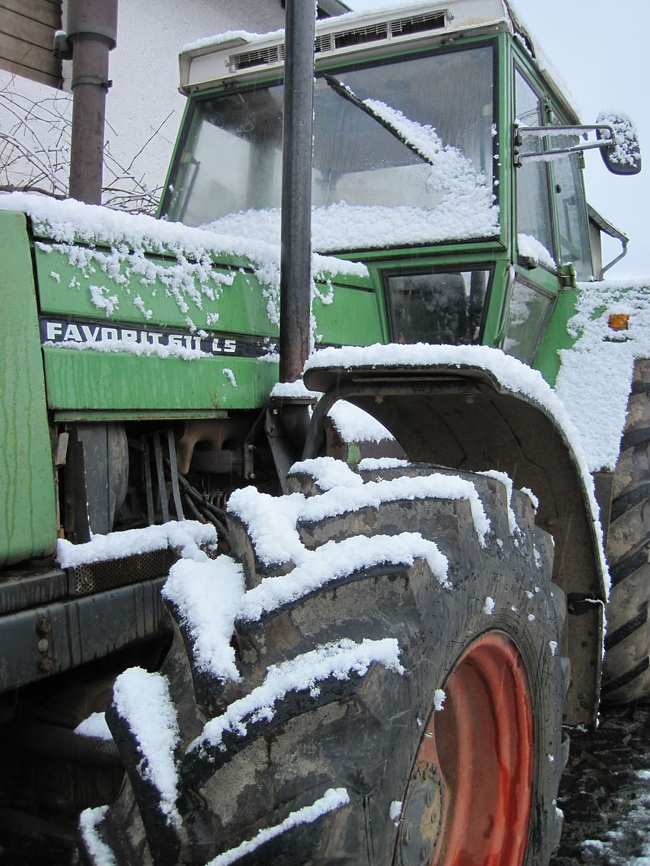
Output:
<instances>
[{"instance_id":1,"label":"rear black tire partly visible at the right edge","mask_svg":"<svg viewBox=\"0 0 650 866\"><path fill-rule=\"evenodd\" d=\"M650 701L650 360L634 365L614 470L607 546L612 591L602 700Z\"/></svg>"}]
</instances>

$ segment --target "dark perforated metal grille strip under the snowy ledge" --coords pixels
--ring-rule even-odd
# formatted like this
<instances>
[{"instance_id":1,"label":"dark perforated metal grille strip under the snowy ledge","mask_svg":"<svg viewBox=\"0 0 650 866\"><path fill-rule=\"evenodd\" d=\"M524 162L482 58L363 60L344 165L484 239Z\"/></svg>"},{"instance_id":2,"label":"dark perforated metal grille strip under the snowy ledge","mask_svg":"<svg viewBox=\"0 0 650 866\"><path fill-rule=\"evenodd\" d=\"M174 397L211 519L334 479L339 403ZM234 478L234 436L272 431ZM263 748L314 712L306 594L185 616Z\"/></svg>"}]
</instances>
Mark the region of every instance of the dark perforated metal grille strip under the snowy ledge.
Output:
<instances>
[{"instance_id":1,"label":"dark perforated metal grille strip under the snowy ledge","mask_svg":"<svg viewBox=\"0 0 650 866\"><path fill-rule=\"evenodd\" d=\"M113 590L117 586L159 578L166 575L178 559L178 553L167 549L135 553L133 556L109 559L107 562L76 565L69 570L72 578L70 594L88 595L90 592Z\"/></svg>"}]
</instances>

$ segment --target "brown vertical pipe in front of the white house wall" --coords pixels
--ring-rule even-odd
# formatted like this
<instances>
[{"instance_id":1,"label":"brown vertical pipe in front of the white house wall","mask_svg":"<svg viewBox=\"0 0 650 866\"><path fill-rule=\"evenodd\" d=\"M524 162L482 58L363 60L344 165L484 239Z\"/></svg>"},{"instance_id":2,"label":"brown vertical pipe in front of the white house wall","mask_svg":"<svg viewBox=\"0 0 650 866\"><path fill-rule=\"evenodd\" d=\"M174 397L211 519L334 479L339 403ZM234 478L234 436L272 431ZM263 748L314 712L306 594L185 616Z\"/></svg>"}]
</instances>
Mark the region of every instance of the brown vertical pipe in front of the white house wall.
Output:
<instances>
[{"instance_id":1,"label":"brown vertical pipe in front of the white house wall","mask_svg":"<svg viewBox=\"0 0 650 866\"><path fill-rule=\"evenodd\" d=\"M69 194L101 204L108 53L117 40L118 0L69 0L72 48L72 145Z\"/></svg>"}]
</instances>

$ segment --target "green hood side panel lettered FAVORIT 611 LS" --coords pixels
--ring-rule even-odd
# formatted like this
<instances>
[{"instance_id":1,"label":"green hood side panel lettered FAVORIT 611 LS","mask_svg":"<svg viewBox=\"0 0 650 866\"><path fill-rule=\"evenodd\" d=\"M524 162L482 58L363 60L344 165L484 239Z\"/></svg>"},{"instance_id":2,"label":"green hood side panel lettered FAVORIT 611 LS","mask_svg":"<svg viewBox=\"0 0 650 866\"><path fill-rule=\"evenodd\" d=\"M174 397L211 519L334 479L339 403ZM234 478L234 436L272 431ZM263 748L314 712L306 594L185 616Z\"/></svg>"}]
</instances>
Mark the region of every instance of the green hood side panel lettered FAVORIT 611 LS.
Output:
<instances>
[{"instance_id":1,"label":"green hood side panel lettered FAVORIT 611 LS","mask_svg":"<svg viewBox=\"0 0 650 866\"><path fill-rule=\"evenodd\" d=\"M278 327L270 310L276 294L250 262L223 255L204 262L188 280L177 257L141 250L136 256L43 236L35 259L48 405L58 419L97 418L97 412L114 418L168 417L165 412L201 417L268 403L276 363L238 357L224 347L234 337L237 344L254 343L257 355L276 350ZM319 343L368 345L382 339L380 307L368 277L323 273L315 291ZM95 340L108 339L128 340L134 348L163 339L189 350L217 340L221 354L185 360L94 351Z\"/></svg>"}]
</instances>

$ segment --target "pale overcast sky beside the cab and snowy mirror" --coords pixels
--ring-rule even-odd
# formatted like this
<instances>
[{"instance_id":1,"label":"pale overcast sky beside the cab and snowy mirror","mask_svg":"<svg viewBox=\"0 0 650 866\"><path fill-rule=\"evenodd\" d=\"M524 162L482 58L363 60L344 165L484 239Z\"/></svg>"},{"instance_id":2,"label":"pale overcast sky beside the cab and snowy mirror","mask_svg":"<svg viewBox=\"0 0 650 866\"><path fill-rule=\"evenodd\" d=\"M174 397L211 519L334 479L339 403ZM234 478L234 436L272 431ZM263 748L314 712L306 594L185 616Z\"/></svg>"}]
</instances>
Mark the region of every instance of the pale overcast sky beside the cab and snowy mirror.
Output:
<instances>
[{"instance_id":1,"label":"pale overcast sky beside the cab and snowy mirror","mask_svg":"<svg viewBox=\"0 0 650 866\"><path fill-rule=\"evenodd\" d=\"M358 11L414 4L346 2ZM634 121L646 160L643 171L615 177L598 152L588 153L587 197L630 238L626 258L608 277L650 277L650 0L514 0L513 5L584 123L594 123L603 110L625 112ZM616 242L605 255L613 258L619 250Z\"/></svg>"}]
</instances>

